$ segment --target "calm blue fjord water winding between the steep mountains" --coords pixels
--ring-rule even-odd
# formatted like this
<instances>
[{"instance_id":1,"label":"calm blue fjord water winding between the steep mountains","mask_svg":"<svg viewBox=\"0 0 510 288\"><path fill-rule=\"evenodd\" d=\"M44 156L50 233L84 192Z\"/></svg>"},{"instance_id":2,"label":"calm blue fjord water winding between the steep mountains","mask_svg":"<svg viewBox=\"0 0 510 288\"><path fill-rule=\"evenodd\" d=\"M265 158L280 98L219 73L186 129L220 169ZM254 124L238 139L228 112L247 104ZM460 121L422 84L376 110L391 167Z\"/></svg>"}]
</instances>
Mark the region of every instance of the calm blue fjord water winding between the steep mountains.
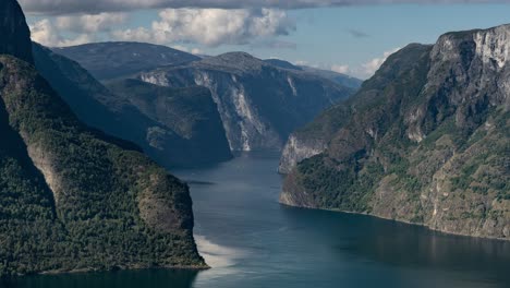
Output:
<instances>
[{"instance_id":1,"label":"calm blue fjord water winding between the steep mountains","mask_svg":"<svg viewBox=\"0 0 510 288\"><path fill-rule=\"evenodd\" d=\"M173 171L190 182L204 272L24 277L15 287L510 287L510 243L279 205L279 155Z\"/></svg>"}]
</instances>

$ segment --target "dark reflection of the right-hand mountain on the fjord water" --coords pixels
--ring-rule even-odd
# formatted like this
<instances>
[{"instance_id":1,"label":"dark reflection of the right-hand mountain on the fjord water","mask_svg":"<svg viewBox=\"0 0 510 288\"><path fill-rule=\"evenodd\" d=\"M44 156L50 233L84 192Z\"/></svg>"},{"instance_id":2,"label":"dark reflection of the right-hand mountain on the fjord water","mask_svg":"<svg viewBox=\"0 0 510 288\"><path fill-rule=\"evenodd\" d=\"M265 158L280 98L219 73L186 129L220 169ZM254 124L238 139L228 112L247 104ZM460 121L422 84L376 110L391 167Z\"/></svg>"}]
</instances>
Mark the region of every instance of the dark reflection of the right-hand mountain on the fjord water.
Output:
<instances>
[{"instance_id":1,"label":"dark reflection of the right-hand mountain on the fjord water","mask_svg":"<svg viewBox=\"0 0 510 288\"><path fill-rule=\"evenodd\" d=\"M510 242L445 235L369 216L282 206L295 227L306 227L333 253L412 269L462 272L510 286ZM312 230L311 230L312 229Z\"/></svg>"}]
</instances>

